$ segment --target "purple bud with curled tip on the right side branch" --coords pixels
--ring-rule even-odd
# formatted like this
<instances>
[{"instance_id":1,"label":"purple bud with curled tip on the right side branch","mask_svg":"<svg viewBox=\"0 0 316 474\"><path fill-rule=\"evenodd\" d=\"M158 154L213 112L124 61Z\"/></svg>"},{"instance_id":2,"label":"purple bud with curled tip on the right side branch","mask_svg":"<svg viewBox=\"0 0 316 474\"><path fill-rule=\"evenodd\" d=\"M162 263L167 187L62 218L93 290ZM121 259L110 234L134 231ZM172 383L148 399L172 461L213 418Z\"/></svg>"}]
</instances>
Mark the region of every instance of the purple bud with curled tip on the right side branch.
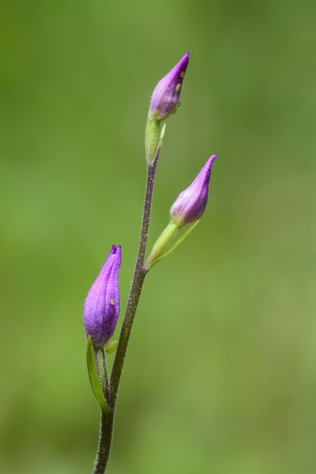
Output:
<instances>
[{"instance_id":1,"label":"purple bud with curled tip on the right side branch","mask_svg":"<svg viewBox=\"0 0 316 474\"><path fill-rule=\"evenodd\" d=\"M205 211L208 202L208 184L211 177L212 163L218 158L212 155L190 186L182 191L170 210L173 221L182 226L198 220Z\"/></svg>"}]
</instances>

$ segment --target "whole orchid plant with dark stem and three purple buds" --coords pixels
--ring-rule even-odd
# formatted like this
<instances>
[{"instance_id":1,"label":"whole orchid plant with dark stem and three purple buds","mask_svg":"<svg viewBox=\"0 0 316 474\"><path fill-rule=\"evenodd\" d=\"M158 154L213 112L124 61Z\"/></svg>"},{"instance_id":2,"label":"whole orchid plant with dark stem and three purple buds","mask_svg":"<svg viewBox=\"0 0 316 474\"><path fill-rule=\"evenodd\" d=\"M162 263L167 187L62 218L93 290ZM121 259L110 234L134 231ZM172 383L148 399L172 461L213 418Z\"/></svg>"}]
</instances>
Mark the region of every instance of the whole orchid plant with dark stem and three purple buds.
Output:
<instances>
[{"instance_id":1,"label":"whole orchid plant with dark stem and three purple buds","mask_svg":"<svg viewBox=\"0 0 316 474\"><path fill-rule=\"evenodd\" d=\"M211 167L217 155L208 158L194 181L179 194L172 204L170 222L146 258L153 187L165 133L165 124L161 131L160 126L161 122L170 117L180 106L179 99L183 78L189 64L189 55L188 51L179 63L158 82L150 102L145 132L147 182L142 229L134 277L118 343L117 341L110 342L110 338L113 336L120 310L118 290L118 273L121 265L120 246L112 246L84 303L83 322L88 340L88 374L92 391L101 411L99 446L93 474L103 474L107 467L112 444L118 385L144 278L155 264L169 255L189 235L199 222L208 202ZM187 224L192 225L171 248L168 248L179 230ZM105 354L114 349L117 350L109 376Z\"/></svg>"}]
</instances>

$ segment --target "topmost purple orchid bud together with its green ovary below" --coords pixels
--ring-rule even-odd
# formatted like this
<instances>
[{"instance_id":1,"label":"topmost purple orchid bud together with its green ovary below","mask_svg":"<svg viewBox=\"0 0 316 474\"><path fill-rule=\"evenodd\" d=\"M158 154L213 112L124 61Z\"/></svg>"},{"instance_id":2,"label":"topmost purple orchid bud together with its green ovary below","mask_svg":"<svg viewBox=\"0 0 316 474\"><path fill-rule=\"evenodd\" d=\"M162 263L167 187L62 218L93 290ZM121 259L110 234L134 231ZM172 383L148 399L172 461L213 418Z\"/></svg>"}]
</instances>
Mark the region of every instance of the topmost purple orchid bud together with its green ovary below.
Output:
<instances>
[{"instance_id":1,"label":"topmost purple orchid bud together with its green ovary below","mask_svg":"<svg viewBox=\"0 0 316 474\"><path fill-rule=\"evenodd\" d=\"M159 126L180 106L182 82L189 64L188 51L156 85L150 102L145 134L146 158L153 164L157 152Z\"/></svg>"}]
</instances>

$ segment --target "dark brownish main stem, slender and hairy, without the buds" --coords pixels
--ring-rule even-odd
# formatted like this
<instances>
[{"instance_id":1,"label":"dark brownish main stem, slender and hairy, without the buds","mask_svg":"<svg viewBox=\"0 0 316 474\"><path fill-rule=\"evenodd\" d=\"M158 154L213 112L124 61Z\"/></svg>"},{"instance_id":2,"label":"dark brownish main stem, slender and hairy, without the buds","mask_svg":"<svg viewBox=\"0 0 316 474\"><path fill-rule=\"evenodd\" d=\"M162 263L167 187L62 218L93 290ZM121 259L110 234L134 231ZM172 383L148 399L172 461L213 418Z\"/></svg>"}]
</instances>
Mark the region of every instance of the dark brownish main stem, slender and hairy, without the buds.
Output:
<instances>
[{"instance_id":1,"label":"dark brownish main stem, slender and hairy, without the buds","mask_svg":"<svg viewBox=\"0 0 316 474\"><path fill-rule=\"evenodd\" d=\"M148 164L147 167L147 184L138 255L110 379L110 411L108 413L101 413L99 447L93 474L103 474L105 472L110 454L119 380L122 374L126 349L129 337L131 335L135 312L146 275L146 270L143 267L149 232L150 213L153 201L153 186L160 150L161 147L159 148L159 151L157 150L157 156L155 157L153 164Z\"/></svg>"}]
</instances>

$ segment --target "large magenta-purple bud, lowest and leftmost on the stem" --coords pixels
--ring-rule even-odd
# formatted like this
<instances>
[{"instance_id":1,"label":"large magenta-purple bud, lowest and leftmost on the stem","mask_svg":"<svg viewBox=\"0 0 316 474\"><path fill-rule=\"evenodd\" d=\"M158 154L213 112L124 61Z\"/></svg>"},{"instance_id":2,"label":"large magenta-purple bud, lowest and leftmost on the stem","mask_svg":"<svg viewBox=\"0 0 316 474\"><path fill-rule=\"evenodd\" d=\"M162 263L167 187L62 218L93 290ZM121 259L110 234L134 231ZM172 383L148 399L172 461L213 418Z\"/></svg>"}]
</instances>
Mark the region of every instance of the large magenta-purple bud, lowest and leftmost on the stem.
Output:
<instances>
[{"instance_id":1,"label":"large magenta-purple bud, lowest and leftmost on the stem","mask_svg":"<svg viewBox=\"0 0 316 474\"><path fill-rule=\"evenodd\" d=\"M121 246L113 245L84 302L83 323L95 346L104 346L114 333L119 315L118 271Z\"/></svg>"}]
</instances>

